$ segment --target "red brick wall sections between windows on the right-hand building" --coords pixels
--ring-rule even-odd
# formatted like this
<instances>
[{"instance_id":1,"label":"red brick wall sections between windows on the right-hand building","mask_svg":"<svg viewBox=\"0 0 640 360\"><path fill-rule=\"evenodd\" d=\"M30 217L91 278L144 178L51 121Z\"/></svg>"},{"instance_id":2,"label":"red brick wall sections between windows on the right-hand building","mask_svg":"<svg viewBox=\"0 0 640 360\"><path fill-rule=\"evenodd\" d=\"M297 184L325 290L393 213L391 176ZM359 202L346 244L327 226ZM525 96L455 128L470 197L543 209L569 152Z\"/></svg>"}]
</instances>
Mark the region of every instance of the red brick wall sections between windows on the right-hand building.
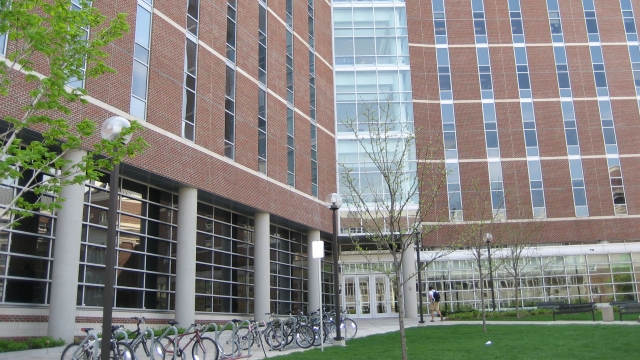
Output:
<instances>
[{"instance_id":1,"label":"red brick wall sections between windows on the right-hand building","mask_svg":"<svg viewBox=\"0 0 640 360\"><path fill-rule=\"evenodd\" d=\"M571 177L566 159L566 140L546 1L522 0L520 3L528 45L547 215L550 219L571 218L575 214ZM484 5L507 214L509 219L530 219L531 195L527 163L523 160L526 154L508 0L484 0ZM559 5L580 149L584 157L589 212L591 216L613 217L611 185L582 2L559 0ZM635 8L639 9L640 3ZM486 163L481 161L486 157L486 151L471 5L468 1L447 1L446 11L465 219L486 219L490 207L478 214L472 211L471 206L478 203L478 199L486 198L489 190ZM635 100L628 49L624 44L626 38L620 6L617 1L596 0L596 11L609 90L614 97L611 104L626 201L629 214L637 215L640 214L640 184L635 179L640 175L640 159L635 154L638 153L637 144L640 142L640 114ZM638 13L640 11L636 10L636 21L640 24ZM441 143L442 125L437 104L439 92L430 2L407 2L407 19L409 42L413 45L410 54L417 141L419 144L434 140ZM439 156L442 158L442 155ZM483 194L474 192L474 183L478 184ZM438 206L446 207L446 197L440 201ZM632 217L547 221L538 240L549 243L636 240L637 235L627 229L638 221ZM458 225L444 226L426 237L427 244L444 244L461 229L462 226Z\"/></svg>"}]
</instances>

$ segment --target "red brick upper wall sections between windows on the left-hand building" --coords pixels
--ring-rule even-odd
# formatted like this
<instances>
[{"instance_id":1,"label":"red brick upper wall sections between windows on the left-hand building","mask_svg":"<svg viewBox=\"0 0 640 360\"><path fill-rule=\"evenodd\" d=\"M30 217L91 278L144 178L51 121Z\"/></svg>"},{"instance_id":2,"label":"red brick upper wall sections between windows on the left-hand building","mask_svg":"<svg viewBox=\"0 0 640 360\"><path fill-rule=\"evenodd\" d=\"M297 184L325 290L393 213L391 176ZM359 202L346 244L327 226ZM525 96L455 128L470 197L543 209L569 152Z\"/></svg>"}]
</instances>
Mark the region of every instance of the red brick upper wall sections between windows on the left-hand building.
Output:
<instances>
[{"instance_id":1,"label":"red brick upper wall sections between windows on the left-hand building","mask_svg":"<svg viewBox=\"0 0 640 360\"><path fill-rule=\"evenodd\" d=\"M186 2L158 0L155 9L181 27L186 25ZM202 0L199 17L198 78L195 144L218 155L224 155L224 94L226 0ZM311 194L311 149L309 139L309 56L306 3L294 2L294 73L296 85L296 189ZM103 1L95 4L107 16L127 12L132 31L108 47L108 64L117 73L87 81L90 95L117 109L128 112L131 94L131 71L135 31L135 2ZM285 78L285 18L284 2L273 1L268 12L268 176L280 184L287 183L286 165L286 98ZM274 15L275 14L275 15ZM325 61L332 62L331 9L326 2L316 2L316 50ZM276 18L279 17L278 18ZM184 76L185 33L158 14L154 14L151 36L149 94L147 122L178 137L181 136ZM219 160L190 146L188 141L176 141L163 133L144 130L141 136L151 145L144 154L127 160L128 165L160 174L184 186L217 194L269 212L310 228L331 232L331 213L322 200L335 192L335 141L333 133L333 73L322 61L316 62L318 124L319 198L314 201L265 181L257 171L258 85L258 4L238 3L237 27L237 92L236 92L236 159L235 164ZM304 39L302 42L300 39ZM243 74L245 73L245 74ZM250 78L252 77L252 78ZM18 115L24 105L28 84L17 84L15 91L0 104L3 115ZM274 96L277 95L280 98ZM72 105L68 118L100 122L111 116L108 111L93 106ZM97 138L95 139L97 140ZM93 141L95 141L93 140ZM91 145L91 141L87 146ZM239 166L236 166L239 165Z\"/></svg>"}]
</instances>

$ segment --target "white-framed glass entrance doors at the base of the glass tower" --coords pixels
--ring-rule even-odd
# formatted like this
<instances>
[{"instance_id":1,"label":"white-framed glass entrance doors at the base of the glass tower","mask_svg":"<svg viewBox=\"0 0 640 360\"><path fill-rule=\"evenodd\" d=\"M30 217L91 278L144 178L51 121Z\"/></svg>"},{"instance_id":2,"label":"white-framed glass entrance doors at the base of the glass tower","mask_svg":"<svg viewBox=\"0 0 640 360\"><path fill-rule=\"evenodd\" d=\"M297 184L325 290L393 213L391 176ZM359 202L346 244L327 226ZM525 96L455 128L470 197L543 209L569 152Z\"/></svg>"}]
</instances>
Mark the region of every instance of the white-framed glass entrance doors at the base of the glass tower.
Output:
<instances>
[{"instance_id":1,"label":"white-framed glass entrance doors at the base of the glass tower","mask_svg":"<svg viewBox=\"0 0 640 360\"><path fill-rule=\"evenodd\" d=\"M397 315L395 292L385 275L343 275L342 288L342 303L353 317Z\"/></svg>"}]
</instances>

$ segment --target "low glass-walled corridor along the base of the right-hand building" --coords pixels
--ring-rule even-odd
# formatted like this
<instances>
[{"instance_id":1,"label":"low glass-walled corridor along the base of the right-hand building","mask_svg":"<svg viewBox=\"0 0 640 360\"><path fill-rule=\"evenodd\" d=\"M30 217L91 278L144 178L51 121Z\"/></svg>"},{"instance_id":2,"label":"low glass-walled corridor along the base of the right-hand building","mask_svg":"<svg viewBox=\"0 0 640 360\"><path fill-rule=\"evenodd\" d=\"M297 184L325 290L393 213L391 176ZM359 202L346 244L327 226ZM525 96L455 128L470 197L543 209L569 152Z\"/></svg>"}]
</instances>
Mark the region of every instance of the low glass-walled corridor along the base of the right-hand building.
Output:
<instances>
[{"instance_id":1,"label":"low glass-walled corridor along the base of the right-hand building","mask_svg":"<svg viewBox=\"0 0 640 360\"><path fill-rule=\"evenodd\" d=\"M500 250L492 252L497 309L515 307L515 281L518 281L518 302L525 307L540 301L638 300L640 243L541 247L523 259L526 266L517 280L499 265L500 256ZM423 260L426 258L428 252L423 253ZM483 262L486 274L486 259ZM423 291L433 286L441 293L442 305L448 310L479 309L482 297L485 307L491 306L489 278L482 279L481 293L477 264L468 252L458 251L433 261L422 275Z\"/></svg>"}]
</instances>

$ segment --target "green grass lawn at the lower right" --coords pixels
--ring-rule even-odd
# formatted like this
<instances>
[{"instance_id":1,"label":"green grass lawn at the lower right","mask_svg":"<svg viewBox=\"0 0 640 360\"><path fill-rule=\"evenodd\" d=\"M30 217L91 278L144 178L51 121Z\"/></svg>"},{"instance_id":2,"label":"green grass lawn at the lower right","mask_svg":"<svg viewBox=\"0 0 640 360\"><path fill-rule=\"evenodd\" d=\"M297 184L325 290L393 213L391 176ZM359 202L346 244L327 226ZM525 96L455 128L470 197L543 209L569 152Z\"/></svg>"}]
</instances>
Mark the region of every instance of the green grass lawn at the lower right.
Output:
<instances>
[{"instance_id":1,"label":"green grass lawn at the lower right","mask_svg":"<svg viewBox=\"0 0 640 360\"><path fill-rule=\"evenodd\" d=\"M637 359L640 326L456 324L407 329L409 359ZM485 343L491 341L492 345ZM272 356L273 354L269 354ZM278 359L399 359L398 332L348 341Z\"/></svg>"}]
</instances>

